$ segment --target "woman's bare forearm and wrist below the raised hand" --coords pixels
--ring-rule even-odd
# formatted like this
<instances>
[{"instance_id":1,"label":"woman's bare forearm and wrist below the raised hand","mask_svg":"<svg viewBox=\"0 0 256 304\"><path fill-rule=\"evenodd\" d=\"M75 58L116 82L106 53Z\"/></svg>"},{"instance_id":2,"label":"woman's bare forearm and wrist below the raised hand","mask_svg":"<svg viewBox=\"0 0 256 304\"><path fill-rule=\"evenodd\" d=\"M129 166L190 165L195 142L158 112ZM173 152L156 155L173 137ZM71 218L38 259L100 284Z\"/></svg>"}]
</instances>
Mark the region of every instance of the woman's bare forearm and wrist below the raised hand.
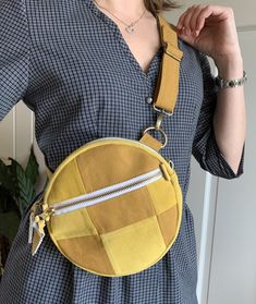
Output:
<instances>
[{"instance_id":1,"label":"woman's bare forearm and wrist below the raised hand","mask_svg":"<svg viewBox=\"0 0 256 304\"><path fill-rule=\"evenodd\" d=\"M221 78L234 80L243 76L243 60L241 56L219 58L216 64ZM219 88L214 115L214 129L220 151L236 173L246 133L243 86Z\"/></svg>"}]
</instances>

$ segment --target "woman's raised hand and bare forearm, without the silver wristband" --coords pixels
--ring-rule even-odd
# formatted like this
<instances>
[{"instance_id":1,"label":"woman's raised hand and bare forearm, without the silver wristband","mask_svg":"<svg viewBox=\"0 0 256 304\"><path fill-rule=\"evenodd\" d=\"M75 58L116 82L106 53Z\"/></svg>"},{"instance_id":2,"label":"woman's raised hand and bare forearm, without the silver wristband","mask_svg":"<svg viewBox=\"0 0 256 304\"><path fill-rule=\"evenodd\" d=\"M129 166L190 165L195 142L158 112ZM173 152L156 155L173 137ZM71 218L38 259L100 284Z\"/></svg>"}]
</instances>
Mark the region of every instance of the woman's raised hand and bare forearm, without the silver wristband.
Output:
<instances>
[{"instance_id":1,"label":"woman's raised hand and bare forearm, without the silver wristband","mask_svg":"<svg viewBox=\"0 0 256 304\"><path fill-rule=\"evenodd\" d=\"M243 60L231 8L193 5L180 16L178 29L182 39L215 60L221 78L243 76ZM219 89L214 129L219 149L236 173L245 141L243 86Z\"/></svg>"}]
</instances>

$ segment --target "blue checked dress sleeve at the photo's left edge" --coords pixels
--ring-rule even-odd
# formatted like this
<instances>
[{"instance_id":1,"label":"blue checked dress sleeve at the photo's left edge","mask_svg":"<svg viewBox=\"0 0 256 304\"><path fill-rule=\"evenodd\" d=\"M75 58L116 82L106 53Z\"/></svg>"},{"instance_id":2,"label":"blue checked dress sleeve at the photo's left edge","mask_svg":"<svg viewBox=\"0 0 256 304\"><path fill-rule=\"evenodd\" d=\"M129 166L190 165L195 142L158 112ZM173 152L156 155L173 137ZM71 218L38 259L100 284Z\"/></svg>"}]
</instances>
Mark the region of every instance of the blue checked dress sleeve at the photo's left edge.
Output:
<instances>
[{"instance_id":1,"label":"blue checked dress sleeve at the photo's left edge","mask_svg":"<svg viewBox=\"0 0 256 304\"><path fill-rule=\"evenodd\" d=\"M0 121L25 95L29 37L25 0L0 0Z\"/></svg>"}]
</instances>

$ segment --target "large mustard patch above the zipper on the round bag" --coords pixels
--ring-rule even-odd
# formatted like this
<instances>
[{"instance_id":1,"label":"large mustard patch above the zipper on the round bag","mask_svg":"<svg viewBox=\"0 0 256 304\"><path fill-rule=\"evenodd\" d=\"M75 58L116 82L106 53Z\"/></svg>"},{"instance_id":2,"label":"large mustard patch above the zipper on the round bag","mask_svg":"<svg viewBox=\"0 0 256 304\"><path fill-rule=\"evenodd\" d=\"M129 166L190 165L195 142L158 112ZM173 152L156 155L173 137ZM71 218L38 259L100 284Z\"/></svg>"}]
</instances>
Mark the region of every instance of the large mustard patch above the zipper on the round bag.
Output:
<instances>
[{"instance_id":1,"label":"large mustard patch above the zipper on the round bag","mask_svg":"<svg viewBox=\"0 0 256 304\"><path fill-rule=\"evenodd\" d=\"M85 154L77 157L77 166L85 184L89 178L90 191L147 173L159 166L159 161L146 151L118 144L98 146Z\"/></svg>"}]
</instances>

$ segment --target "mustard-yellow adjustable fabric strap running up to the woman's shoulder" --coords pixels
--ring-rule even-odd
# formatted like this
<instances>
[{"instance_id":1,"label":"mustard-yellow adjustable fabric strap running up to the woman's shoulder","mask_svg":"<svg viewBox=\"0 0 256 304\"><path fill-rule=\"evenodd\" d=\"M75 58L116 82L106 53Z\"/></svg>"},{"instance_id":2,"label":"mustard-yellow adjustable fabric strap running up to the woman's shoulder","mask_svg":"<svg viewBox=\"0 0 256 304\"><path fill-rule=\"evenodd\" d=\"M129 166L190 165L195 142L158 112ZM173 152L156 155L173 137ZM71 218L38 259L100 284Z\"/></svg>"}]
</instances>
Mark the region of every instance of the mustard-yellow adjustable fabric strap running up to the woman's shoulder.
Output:
<instances>
[{"instance_id":1,"label":"mustard-yellow adjustable fabric strap running up to the woman's shoulder","mask_svg":"<svg viewBox=\"0 0 256 304\"><path fill-rule=\"evenodd\" d=\"M179 49L174 26L161 15L157 15L157 20L164 52L154 94L154 107L155 110L173 113L179 93L180 62L183 52Z\"/></svg>"}]
</instances>

